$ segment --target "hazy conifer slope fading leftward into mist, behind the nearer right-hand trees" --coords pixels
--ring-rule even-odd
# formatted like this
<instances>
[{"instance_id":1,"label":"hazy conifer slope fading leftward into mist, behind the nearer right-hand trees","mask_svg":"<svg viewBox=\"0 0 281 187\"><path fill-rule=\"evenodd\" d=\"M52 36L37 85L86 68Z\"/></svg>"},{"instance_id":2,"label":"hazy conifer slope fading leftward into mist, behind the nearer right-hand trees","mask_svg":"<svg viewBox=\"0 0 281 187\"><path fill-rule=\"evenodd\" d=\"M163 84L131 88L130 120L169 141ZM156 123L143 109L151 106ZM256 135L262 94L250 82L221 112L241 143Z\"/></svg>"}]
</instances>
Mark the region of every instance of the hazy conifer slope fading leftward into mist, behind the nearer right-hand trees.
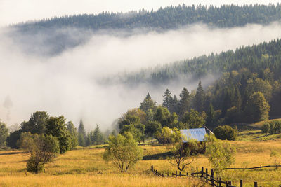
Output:
<instances>
[{"instance_id":1,"label":"hazy conifer slope fading leftward into mist, behind the nearer right-hand trees","mask_svg":"<svg viewBox=\"0 0 281 187\"><path fill-rule=\"evenodd\" d=\"M281 40L269 43L237 48L219 54L211 53L181 60L152 69L142 69L138 72L122 74L119 81L135 85L150 83L152 85L166 84L182 78L203 78L209 74L222 74L230 71L247 69L251 73L261 74L263 69L270 69L275 81L281 78ZM109 81L109 80L107 80Z\"/></svg>"}]
</instances>

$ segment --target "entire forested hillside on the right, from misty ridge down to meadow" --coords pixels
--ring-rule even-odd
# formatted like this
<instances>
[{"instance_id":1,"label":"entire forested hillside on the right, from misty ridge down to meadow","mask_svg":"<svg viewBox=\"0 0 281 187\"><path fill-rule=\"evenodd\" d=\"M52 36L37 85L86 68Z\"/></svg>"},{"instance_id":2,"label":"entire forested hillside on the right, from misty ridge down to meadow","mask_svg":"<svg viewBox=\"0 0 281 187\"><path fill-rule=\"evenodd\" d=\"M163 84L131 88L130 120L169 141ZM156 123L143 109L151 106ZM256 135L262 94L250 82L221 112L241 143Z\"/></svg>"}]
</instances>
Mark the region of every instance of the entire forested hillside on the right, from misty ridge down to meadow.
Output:
<instances>
[{"instance_id":1,"label":"entire forested hillside on the right, from misty ridge down to meadow","mask_svg":"<svg viewBox=\"0 0 281 187\"><path fill-rule=\"evenodd\" d=\"M138 109L140 111L128 111L120 118L121 130L128 130L130 125L138 129L140 124L148 124L145 129L216 127L281 116L280 39L150 71L146 81L152 83L166 83L193 72L197 78L207 74L221 74L221 77L205 89L201 81L195 91L183 88L181 93L174 94L167 89L163 93L162 106L157 106L153 96L147 95ZM132 76L134 81L141 81L143 72Z\"/></svg>"}]
</instances>

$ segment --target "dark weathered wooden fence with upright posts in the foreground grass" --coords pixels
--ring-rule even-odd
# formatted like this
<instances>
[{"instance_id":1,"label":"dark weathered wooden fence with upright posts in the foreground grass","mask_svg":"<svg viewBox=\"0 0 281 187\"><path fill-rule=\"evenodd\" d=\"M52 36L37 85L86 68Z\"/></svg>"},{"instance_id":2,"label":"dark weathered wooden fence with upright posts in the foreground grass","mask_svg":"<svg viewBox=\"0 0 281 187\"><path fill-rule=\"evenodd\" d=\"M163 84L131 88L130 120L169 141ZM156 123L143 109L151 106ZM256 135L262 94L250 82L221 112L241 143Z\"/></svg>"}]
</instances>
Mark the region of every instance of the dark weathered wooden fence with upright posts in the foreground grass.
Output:
<instances>
[{"instance_id":1,"label":"dark weathered wooden fence with upright posts in the foreground grass","mask_svg":"<svg viewBox=\"0 0 281 187\"><path fill-rule=\"evenodd\" d=\"M196 172L195 173L191 173L190 175L188 175L188 173L181 173L181 172L176 172L176 173L171 173L171 175L169 173L166 174L161 174L159 173L157 170L154 169L153 165L151 166L151 171L157 175L157 176L162 176L162 177L182 177L182 176L190 176L190 177L197 177L200 178L202 181L205 181L206 183L210 184L211 186L216 186L216 187L221 187L221 186L226 186L226 187L237 187L237 186L233 186L231 181L222 181L221 178L220 179L215 179L214 177L214 170L211 169L210 170L210 174L208 173L208 169L206 168L204 170L204 167L201 168L201 171L198 172L198 167L196 167ZM240 180L240 187L243 187L243 180ZM254 187L258 187L258 183L254 182Z\"/></svg>"}]
</instances>

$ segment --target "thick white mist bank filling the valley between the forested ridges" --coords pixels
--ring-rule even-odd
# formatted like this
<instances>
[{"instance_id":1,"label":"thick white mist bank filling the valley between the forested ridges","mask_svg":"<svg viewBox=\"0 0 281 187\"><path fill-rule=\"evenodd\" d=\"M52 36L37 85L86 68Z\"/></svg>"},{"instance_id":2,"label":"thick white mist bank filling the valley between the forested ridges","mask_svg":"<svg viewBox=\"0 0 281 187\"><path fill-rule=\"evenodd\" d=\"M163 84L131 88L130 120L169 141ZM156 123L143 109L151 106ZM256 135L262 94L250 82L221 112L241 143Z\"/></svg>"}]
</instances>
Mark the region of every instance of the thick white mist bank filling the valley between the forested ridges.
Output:
<instances>
[{"instance_id":1,"label":"thick white mist bank filling the valley between the forested ridges","mask_svg":"<svg viewBox=\"0 0 281 187\"><path fill-rule=\"evenodd\" d=\"M139 106L147 92L161 104L166 88L178 95L183 86L195 89L197 81L184 80L157 89L148 85L129 89L121 84L100 85L100 78L270 41L280 38L280 29L280 24L273 23L233 29L193 25L130 36L103 31L91 33L83 44L51 57L25 53L24 44L0 34L0 101L4 103L8 95L13 103L8 109L9 125L28 120L34 111L48 111L51 116L61 114L76 124L83 118L87 130L96 123L105 129L127 109ZM211 83L215 78L202 82ZM5 120L7 112L2 104L0 118Z\"/></svg>"}]
</instances>

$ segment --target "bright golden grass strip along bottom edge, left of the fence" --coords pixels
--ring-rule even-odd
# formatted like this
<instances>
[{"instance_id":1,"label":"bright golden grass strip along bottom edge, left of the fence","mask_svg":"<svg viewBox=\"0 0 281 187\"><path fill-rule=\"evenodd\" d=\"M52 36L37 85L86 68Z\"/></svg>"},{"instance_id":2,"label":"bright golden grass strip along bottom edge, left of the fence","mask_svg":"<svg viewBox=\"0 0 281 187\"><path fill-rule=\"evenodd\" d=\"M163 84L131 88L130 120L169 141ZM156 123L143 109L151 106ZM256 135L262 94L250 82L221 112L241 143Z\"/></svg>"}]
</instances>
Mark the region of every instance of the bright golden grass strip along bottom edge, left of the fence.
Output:
<instances>
[{"instance_id":1,"label":"bright golden grass strip along bottom edge, left of the fence","mask_svg":"<svg viewBox=\"0 0 281 187\"><path fill-rule=\"evenodd\" d=\"M196 179L165 178L147 174L64 174L5 176L1 186L206 186Z\"/></svg>"}]
</instances>

